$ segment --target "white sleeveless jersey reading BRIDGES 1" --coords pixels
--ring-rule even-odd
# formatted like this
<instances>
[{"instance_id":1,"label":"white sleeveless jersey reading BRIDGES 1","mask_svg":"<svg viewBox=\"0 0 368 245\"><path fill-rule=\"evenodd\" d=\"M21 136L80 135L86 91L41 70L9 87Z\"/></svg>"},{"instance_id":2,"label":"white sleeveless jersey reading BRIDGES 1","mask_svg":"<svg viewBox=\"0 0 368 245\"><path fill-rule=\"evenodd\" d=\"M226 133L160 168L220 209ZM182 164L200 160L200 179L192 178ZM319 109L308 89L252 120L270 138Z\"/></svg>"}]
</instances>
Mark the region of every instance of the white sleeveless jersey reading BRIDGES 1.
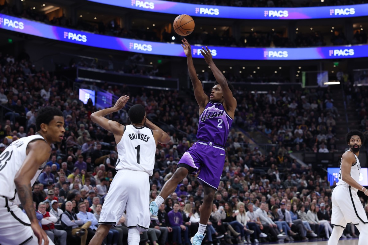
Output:
<instances>
[{"instance_id":1,"label":"white sleeveless jersey reading BRIDGES 1","mask_svg":"<svg viewBox=\"0 0 368 245\"><path fill-rule=\"evenodd\" d=\"M134 125L125 126L123 137L116 148L119 155L116 170L143 171L152 176L155 166L156 141L151 129Z\"/></svg>"}]
</instances>

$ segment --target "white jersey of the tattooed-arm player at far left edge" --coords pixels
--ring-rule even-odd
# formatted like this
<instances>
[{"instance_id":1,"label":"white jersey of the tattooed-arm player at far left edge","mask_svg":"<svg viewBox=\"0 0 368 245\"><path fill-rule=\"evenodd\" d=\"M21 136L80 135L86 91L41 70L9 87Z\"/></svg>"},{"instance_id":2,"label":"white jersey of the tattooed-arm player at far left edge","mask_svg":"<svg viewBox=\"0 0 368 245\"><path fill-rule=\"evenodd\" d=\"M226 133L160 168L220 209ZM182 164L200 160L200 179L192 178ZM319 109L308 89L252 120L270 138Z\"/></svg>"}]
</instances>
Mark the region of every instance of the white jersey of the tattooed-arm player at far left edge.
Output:
<instances>
[{"instance_id":1,"label":"white jersey of the tattooed-arm player at far left edge","mask_svg":"<svg viewBox=\"0 0 368 245\"><path fill-rule=\"evenodd\" d=\"M35 140L45 140L40 135L32 135L20 138L11 143L0 155L0 196L7 197L16 204L21 204L17 190L15 189L15 174L23 165L26 155L27 145ZM31 180L31 186L35 183L46 162L39 166L36 175Z\"/></svg>"}]
</instances>

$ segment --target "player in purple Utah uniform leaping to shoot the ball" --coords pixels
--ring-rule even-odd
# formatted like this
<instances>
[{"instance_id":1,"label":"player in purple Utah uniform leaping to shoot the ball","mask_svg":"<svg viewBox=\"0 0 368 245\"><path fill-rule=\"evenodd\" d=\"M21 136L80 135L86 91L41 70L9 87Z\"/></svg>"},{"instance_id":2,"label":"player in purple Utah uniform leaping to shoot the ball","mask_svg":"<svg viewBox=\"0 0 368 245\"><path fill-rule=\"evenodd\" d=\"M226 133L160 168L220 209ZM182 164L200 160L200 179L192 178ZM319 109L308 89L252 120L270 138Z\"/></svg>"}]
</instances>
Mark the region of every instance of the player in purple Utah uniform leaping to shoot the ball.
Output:
<instances>
[{"instance_id":1,"label":"player in purple Utah uniform leaping to shoot the ball","mask_svg":"<svg viewBox=\"0 0 368 245\"><path fill-rule=\"evenodd\" d=\"M191 238L193 245L200 245L204 238L208 219L212 212L212 202L215 191L220 184L220 177L225 162L224 145L233 122L236 109L236 99L233 97L230 86L212 60L212 54L208 47L201 53L209 65L216 83L211 89L210 97L203 90L202 83L195 71L192 50L186 39L181 45L187 56L189 76L194 88L194 96L199 105L198 141L188 149L177 165L177 170L164 184L160 195L151 202L151 219L157 220L158 207L177 187L189 173L197 174L197 180L204 186L204 201L201 207L201 219L198 232Z\"/></svg>"}]
</instances>

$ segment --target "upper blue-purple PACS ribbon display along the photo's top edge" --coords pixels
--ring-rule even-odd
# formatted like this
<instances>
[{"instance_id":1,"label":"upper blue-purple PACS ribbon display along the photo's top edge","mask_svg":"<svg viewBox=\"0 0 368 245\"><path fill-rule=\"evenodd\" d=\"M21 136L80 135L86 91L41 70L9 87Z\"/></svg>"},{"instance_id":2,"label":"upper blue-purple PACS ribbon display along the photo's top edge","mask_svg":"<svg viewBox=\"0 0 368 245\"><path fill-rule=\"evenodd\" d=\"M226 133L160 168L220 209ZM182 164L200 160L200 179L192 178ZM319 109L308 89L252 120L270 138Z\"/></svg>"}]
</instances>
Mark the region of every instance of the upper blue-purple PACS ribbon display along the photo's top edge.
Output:
<instances>
[{"instance_id":1,"label":"upper blue-purple PACS ribbon display along the photo's top edge","mask_svg":"<svg viewBox=\"0 0 368 245\"><path fill-rule=\"evenodd\" d=\"M192 17L229 19L322 19L346 18L368 15L368 4L272 8L229 7L203 4L178 3L161 0L88 0L95 3L165 14L188 14Z\"/></svg>"}]
</instances>

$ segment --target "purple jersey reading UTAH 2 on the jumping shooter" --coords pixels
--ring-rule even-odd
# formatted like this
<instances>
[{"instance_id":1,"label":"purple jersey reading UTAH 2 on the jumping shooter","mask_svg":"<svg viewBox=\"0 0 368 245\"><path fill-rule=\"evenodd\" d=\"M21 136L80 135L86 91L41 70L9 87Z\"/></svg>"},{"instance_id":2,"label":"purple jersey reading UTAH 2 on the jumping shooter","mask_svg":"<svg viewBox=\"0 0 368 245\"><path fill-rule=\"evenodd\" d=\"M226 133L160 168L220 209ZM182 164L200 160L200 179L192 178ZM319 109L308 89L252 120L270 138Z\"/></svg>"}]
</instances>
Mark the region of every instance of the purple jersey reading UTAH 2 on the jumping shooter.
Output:
<instances>
[{"instance_id":1,"label":"purple jersey reading UTAH 2 on the jumping shooter","mask_svg":"<svg viewBox=\"0 0 368 245\"><path fill-rule=\"evenodd\" d=\"M197 139L224 146L232 122L222 103L208 101L199 116Z\"/></svg>"}]
</instances>

